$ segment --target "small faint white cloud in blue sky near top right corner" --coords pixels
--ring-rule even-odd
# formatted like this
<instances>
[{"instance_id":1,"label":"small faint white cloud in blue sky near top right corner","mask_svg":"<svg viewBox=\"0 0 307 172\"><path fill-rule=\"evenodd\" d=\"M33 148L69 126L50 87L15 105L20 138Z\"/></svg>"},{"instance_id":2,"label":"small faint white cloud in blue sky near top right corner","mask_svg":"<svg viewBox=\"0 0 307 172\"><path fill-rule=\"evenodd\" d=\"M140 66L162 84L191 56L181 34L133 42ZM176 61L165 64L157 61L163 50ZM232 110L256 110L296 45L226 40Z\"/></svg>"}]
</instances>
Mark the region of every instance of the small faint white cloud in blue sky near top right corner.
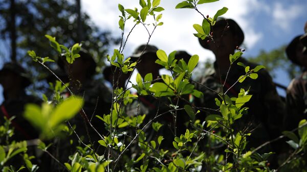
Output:
<instances>
[{"instance_id":1,"label":"small faint white cloud in blue sky near top right corner","mask_svg":"<svg viewBox=\"0 0 307 172\"><path fill-rule=\"evenodd\" d=\"M298 4L283 5L275 3L273 6L273 22L283 31L289 32L294 19L303 14L305 8Z\"/></svg>"}]
</instances>

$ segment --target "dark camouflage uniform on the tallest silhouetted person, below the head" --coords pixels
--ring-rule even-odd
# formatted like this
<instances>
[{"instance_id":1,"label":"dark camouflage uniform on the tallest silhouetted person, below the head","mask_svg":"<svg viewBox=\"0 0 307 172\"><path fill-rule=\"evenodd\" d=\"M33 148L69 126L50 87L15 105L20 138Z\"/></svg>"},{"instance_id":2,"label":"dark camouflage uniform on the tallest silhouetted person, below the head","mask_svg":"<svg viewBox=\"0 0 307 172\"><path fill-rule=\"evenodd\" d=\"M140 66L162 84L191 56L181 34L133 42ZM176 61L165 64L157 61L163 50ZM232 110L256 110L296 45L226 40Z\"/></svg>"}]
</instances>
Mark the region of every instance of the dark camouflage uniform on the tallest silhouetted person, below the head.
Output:
<instances>
[{"instance_id":1,"label":"dark camouflage uniform on the tallest silhouetted person, below the head","mask_svg":"<svg viewBox=\"0 0 307 172\"><path fill-rule=\"evenodd\" d=\"M242 62L251 68L256 66L256 64L250 63L243 58L240 58L238 62ZM210 73L208 76L202 77L200 83L216 92L222 92L221 82L224 83L226 76L221 76L221 81L220 76L217 76L217 73L215 72L216 70L218 69L216 64L214 64L214 69L211 69L211 72L208 72ZM261 69L257 73L257 80L247 78L243 83L238 82L230 88L240 76L245 75L243 67L232 66L224 87L224 92L230 88L227 93L230 97L237 97L240 88L250 90L249 94L252 94L251 100L245 105L246 107L249 107L248 114L244 115L236 122L238 124L237 127L240 130L247 127L248 124L252 125L252 129L256 128L250 138L250 146L252 147L259 146L261 143L279 136L282 118L284 116L284 104L277 94L275 85L272 82L269 73L265 69ZM196 87L204 93L204 98L196 100L196 105L218 109L214 101L218 95L199 84L197 84ZM213 114L213 112L203 114L204 116L201 118L204 119L208 114Z\"/></svg>"}]
</instances>

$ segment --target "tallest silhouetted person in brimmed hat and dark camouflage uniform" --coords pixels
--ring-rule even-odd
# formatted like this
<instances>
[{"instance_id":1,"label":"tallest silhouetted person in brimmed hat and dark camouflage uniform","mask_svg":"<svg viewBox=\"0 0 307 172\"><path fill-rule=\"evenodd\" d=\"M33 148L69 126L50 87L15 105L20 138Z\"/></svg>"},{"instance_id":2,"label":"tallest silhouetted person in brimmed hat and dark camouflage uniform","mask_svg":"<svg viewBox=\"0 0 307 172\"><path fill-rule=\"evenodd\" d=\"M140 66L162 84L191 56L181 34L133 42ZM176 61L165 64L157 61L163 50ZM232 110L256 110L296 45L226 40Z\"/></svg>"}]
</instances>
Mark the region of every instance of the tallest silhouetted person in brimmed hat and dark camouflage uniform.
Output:
<instances>
[{"instance_id":1,"label":"tallest silhouetted person in brimmed hat and dark camouflage uniform","mask_svg":"<svg viewBox=\"0 0 307 172\"><path fill-rule=\"evenodd\" d=\"M257 72L257 80L247 78L243 83L236 83L240 76L245 75L244 68L237 66L237 62L242 62L251 68L257 66L240 57L233 63L228 72L230 67L229 55L234 54L237 46L240 46L244 41L244 33L234 20L218 18L211 32L214 41L206 38L204 40L199 39L199 42L204 48L214 53L216 61L213 65L214 69L208 76L202 77L200 83L216 92L225 92L229 89L227 94L230 97L237 97L240 88L244 88L245 91L249 90L249 94L253 96L245 105L249 107L248 114L243 115L236 122L235 129L252 131L248 145L250 148L256 148L265 141L274 139L281 134L280 124L284 116L284 104L277 94L272 78L265 69ZM224 83L224 90L222 91ZM198 87L198 90L204 93L204 99L196 100L197 106L217 109L214 99L218 98L218 95L201 85L198 85ZM208 114L214 114L214 111L208 112ZM202 119L205 116L203 114Z\"/></svg>"}]
</instances>

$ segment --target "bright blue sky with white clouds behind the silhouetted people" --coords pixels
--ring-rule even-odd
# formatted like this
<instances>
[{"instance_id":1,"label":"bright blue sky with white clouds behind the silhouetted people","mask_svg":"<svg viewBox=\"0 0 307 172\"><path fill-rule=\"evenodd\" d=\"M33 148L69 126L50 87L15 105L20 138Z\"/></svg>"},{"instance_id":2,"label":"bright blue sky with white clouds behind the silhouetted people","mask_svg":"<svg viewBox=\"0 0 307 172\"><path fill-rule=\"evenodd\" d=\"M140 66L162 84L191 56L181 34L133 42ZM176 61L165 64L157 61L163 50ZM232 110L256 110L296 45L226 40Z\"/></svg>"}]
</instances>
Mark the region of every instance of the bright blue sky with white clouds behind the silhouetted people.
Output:
<instances>
[{"instance_id":1,"label":"bright blue sky with white clouds behind the silhouetted people","mask_svg":"<svg viewBox=\"0 0 307 172\"><path fill-rule=\"evenodd\" d=\"M199 55L201 61L207 58L214 59L214 55L205 50L193 36L196 31L192 26L195 23L202 23L202 15L193 9L175 9L180 2L182 0L161 0L160 6L165 11L160 12L163 14L160 21L164 24L155 30L149 43L156 45L167 54L175 50L185 50L191 55ZM121 36L118 26L120 15L118 4L123 5L125 9L135 7L139 11L141 9L138 0L81 0L82 11L86 12L99 28L111 31L115 37ZM220 0L198 6L201 13L210 17L223 7L229 9L223 17L234 19L244 31L245 41L242 46L246 49L245 57L256 56L260 50L270 51L288 44L292 38L303 34L303 26L307 21L307 15L304 12L307 9L305 0ZM150 18L146 20L151 23ZM124 38L132 27L132 22L127 23ZM152 29L148 26L150 32ZM138 45L146 43L147 40L148 33L144 26L138 24L127 40L123 52L125 57L130 56ZM112 54L113 50L109 53ZM2 67L2 64L0 65ZM284 76L286 74L281 71L275 82L288 86L290 79ZM0 87L0 93L1 90ZM0 102L2 100L0 96Z\"/></svg>"}]
</instances>

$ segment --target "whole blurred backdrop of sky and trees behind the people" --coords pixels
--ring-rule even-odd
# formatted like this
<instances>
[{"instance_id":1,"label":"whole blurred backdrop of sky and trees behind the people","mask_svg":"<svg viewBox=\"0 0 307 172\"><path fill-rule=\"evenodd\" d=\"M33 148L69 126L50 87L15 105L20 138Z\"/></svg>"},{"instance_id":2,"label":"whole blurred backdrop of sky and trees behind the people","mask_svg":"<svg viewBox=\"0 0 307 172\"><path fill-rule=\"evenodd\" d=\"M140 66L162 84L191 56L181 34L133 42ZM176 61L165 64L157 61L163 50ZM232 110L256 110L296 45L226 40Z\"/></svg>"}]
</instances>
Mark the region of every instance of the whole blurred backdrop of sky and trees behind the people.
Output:
<instances>
[{"instance_id":1,"label":"whole blurred backdrop of sky and trees behind the people","mask_svg":"<svg viewBox=\"0 0 307 172\"><path fill-rule=\"evenodd\" d=\"M202 62L195 71L201 75L204 63L214 60L213 54L202 48L192 25L202 22L202 15L193 9L175 9L181 1L161 0L163 26L158 27L150 39L150 44L158 46L167 54L174 50L185 50L191 55L197 54ZM57 40L72 46L84 41L98 63L101 73L106 63L105 55L119 48L121 30L118 26L120 12L118 4L125 8L139 7L138 0L0 0L0 68L5 62L21 63L33 76L34 83L28 91L43 89L43 79L50 73L40 65L33 63L27 56L28 50L34 50L38 56L57 58L49 46L45 34L55 36ZM293 65L284 54L284 47L297 35L303 34L307 21L304 0L221 0L203 4L199 10L204 15L213 16L218 9L229 10L223 17L232 18L245 33L244 57L267 66L274 82L288 86L292 78L301 70ZM150 23L149 23L150 24ZM127 23L124 38L133 28ZM152 27L148 27L149 30ZM124 50L125 57L148 40L147 31L139 24L131 33ZM55 65L50 65L56 69ZM102 78L98 75L97 78ZM40 91L35 91L39 94ZM285 95L283 89L278 89ZM0 103L3 101L0 86Z\"/></svg>"}]
</instances>

